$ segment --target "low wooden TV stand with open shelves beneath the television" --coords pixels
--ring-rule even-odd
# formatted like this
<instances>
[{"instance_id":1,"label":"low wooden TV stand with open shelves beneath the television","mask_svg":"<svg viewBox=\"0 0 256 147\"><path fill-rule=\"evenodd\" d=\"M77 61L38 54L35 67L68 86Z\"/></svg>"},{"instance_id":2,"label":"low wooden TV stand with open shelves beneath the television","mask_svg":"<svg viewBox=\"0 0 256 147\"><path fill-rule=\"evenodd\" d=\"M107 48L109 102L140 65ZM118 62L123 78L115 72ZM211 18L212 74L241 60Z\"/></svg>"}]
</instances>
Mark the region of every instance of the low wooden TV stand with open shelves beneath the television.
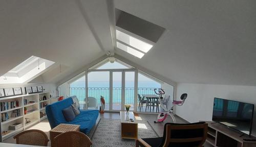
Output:
<instances>
[{"instance_id":1,"label":"low wooden TV stand with open shelves beneath the television","mask_svg":"<svg viewBox=\"0 0 256 147\"><path fill-rule=\"evenodd\" d=\"M234 131L219 123L205 121L208 124L208 132L206 142L211 146L234 146L234 147L253 147L256 141L244 140L246 136L241 135L238 131ZM248 137L247 137L248 138ZM251 136L250 139L256 139Z\"/></svg>"}]
</instances>

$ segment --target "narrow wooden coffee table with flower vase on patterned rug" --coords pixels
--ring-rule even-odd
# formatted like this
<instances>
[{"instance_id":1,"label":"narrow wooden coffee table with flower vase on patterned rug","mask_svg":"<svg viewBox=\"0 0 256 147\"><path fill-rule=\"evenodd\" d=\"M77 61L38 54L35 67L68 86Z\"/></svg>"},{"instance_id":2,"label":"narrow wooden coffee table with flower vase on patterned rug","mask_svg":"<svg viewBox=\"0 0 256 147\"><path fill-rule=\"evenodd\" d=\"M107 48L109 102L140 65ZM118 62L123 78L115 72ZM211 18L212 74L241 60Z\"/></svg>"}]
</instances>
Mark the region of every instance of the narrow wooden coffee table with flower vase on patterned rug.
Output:
<instances>
[{"instance_id":1,"label":"narrow wooden coffee table with flower vase on patterned rug","mask_svg":"<svg viewBox=\"0 0 256 147\"><path fill-rule=\"evenodd\" d=\"M134 122L131 120L126 120L126 116L133 118ZM134 117L133 112L128 114L125 111L120 111L121 118L121 138L126 139L137 139L138 138L138 122Z\"/></svg>"}]
</instances>

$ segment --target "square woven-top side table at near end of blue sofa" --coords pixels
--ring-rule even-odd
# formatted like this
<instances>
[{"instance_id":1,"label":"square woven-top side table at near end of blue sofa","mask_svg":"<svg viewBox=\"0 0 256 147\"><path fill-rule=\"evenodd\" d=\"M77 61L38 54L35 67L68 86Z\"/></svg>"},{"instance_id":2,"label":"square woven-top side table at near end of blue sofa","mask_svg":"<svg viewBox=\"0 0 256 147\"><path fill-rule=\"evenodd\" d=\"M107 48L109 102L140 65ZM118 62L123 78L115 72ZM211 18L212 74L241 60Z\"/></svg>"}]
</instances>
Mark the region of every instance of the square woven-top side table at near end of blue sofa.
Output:
<instances>
[{"instance_id":1,"label":"square woven-top side table at near end of blue sofa","mask_svg":"<svg viewBox=\"0 0 256 147\"><path fill-rule=\"evenodd\" d=\"M52 130L50 130L50 139L51 139L51 146L53 146L53 138L57 135L69 131L80 131L80 125L70 125L70 124L59 124Z\"/></svg>"}]
</instances>

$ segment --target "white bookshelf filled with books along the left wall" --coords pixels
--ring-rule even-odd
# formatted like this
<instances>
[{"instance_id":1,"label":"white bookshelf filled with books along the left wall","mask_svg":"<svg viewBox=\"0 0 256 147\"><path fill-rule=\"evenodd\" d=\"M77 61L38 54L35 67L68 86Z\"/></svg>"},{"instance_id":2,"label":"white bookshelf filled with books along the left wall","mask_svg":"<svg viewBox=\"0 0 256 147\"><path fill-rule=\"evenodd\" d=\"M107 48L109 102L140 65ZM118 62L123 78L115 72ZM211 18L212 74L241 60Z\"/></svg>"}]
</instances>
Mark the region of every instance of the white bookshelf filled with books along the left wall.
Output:
<instances>
[{"instance_id":1,"label":"white bookshelf filled with books along the left wall","mask_svg":"<svg viewBox=\"0 0 256 147\"><path fill-rule=\"evenodd\" d=\"M42 97L46 96L47 100L42 100ZM24 100L27 99L28 103L27 105L24 105ZM10 96L10 97L4 97L0 98L0 102L12 102L12 101L18 101L18 107L8 109L1 111L0 114L8 113L9 119L2 122L2 115L0 115L0 142L11 137L12 135L15 135L28 127L31 127L35 125L37 122L40 122L47 118L46 115L40 117L40 112L46 113L45 107L40 107L42 103L49 105L50 104L50 92L42 92L42 93L33 93L33 94L25 94L25 95L17 95L17 96ZM45 105L44 105L45 106ZM27 114L24 114L24 108L27 108ZM20 111L20 116L17 117L11 117L11 113L13 110ZM25 118L30 118L30 122L26 123ZM15 123L21 123L22 128L17 130L9 130L9 126ZM8 134L2 135L2 131L9 131Z\"/></svg>"}]
</instances>

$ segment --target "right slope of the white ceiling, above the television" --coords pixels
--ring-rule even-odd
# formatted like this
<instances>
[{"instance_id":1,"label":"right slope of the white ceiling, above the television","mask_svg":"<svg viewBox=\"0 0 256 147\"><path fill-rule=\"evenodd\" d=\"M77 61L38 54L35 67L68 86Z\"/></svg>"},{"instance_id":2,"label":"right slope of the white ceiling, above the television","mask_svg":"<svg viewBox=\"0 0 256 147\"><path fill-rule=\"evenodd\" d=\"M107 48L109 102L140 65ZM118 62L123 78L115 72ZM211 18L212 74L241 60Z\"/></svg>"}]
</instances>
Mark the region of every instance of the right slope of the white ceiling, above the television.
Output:
<instances>
[{"instance_id":1,"label":"right slope of the white ceiling, above the television","mask_svg":"<svg viewBox=\"0 0 256 147\"><path fill-rule=\"evenodd\" d=\"M114 1L167 31L142 58L176 82L256 86L256 1Z\"/></svg>"}]
</instances>

